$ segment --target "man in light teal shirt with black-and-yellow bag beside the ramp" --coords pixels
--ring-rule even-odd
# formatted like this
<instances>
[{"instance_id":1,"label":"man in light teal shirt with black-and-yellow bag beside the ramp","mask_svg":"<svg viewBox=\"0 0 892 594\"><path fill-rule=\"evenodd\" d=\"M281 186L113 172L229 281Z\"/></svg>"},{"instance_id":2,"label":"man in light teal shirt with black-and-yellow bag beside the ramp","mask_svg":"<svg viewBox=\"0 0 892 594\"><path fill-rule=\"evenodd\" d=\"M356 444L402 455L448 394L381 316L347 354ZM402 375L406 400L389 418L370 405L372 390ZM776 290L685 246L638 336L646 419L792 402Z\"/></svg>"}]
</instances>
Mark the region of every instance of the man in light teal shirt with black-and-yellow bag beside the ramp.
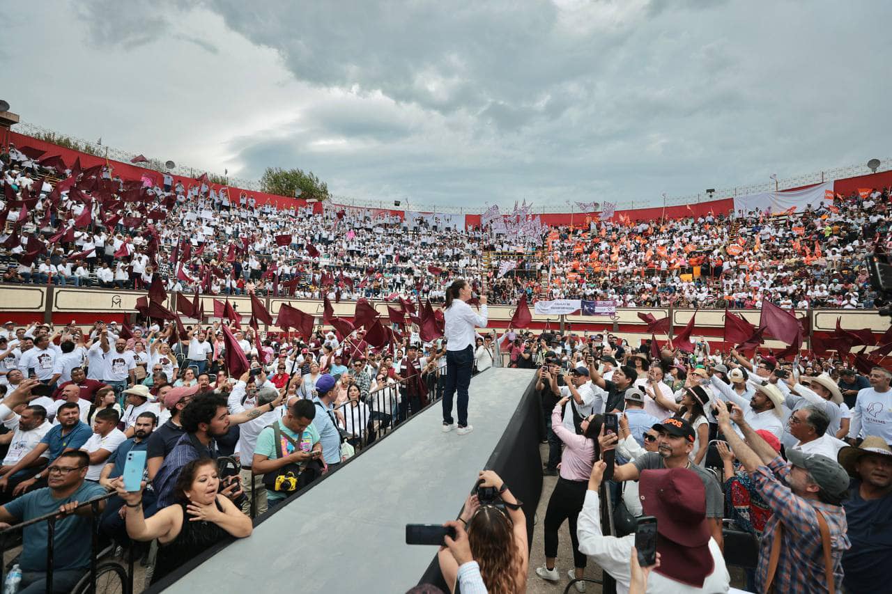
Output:
<instances>
[{"instance_id":1,"label":"man in light teal shirt with black-and-yellow bag beside the ramp","mask_svg":"<svg viewBox=\"0 0 892 594\"><path fill-rule=\"evenodd\" d=\"M257 436L257 446L252 458L254 474L278 472L283 466L299 464L301 469L308 463L322 456L322 444L319 432L313 426L316 407L310 400L298 400L280 418L278 425L279 439L274 425L264 427ZM282 502L290 493L267 489L267 502L274 507Z\"/></svg>"}]
</instances>

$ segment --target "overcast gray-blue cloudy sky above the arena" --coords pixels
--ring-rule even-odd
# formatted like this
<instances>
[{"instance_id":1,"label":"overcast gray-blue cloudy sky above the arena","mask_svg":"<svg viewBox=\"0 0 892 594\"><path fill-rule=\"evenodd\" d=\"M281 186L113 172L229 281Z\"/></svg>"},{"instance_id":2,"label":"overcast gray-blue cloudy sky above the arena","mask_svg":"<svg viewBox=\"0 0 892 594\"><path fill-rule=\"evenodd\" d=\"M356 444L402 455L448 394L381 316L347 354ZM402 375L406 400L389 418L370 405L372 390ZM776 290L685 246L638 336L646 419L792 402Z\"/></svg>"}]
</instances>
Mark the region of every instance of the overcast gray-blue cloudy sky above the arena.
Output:
<instances>
[{"instance_id":1,"label":"overcast gray-blue cloudy sky above the arena","mask_svg":"<svg viewBox=\"0 0 892 594\"><path fill-rule=\"evenodd\" d=\"M892 3L4 3L22 120L431 204L657 203L885 158Z\"/></svg>"}]
</instances>

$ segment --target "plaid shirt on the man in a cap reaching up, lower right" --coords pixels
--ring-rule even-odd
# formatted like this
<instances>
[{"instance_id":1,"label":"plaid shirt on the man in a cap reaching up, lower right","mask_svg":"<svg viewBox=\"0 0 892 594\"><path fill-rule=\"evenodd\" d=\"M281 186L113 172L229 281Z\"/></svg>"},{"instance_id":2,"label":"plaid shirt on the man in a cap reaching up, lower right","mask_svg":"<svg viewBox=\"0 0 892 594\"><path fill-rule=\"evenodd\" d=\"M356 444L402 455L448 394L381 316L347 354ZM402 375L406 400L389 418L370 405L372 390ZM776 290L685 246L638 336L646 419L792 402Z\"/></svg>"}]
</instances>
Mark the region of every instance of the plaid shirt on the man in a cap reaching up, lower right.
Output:
<instances>
[{"instance_id":1,"label":"plaid shirt on the man in a cap reaching up, lower right","mask_svg":"<svg viewBox=\"0 0 892 594\"><path fill-rule=\"evenodd\" d=\"M773 474L772 474L773 473ZM790 467L783 458L774 458L768 466L752 473L756 491L771 507L773 515L765 524L759 565L756 567L756 591L762 592L768 579L774 532L783 524L778 568L774 573L775 592L805 594L828 592L824 579L824 554L816 509L821 510L830 528L831 558L836 591L842 590L842 554L852 545L846 536L846 512L841 506L803 499L780 481L787 482Z\"/></svg>"}]
</instances>

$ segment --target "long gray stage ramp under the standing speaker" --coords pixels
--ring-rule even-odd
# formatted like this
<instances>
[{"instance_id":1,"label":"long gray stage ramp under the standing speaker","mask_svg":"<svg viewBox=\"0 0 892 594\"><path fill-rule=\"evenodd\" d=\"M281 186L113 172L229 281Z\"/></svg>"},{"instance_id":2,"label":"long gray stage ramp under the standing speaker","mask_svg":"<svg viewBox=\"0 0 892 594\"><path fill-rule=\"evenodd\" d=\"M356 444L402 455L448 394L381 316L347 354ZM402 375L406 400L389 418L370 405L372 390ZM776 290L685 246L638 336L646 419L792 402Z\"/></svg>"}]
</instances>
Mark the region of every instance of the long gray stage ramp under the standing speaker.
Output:
<instances>
[{"instance_id":1,"label":"long gray stage ramp under the standing speaker","mask_svg":"<svg viewBox=\"0 0 892 594\"><path fill-rule=\"evenodd\" d=\"M165 591L409 590L437 549L405 544L406 524L455 519L533 375L475 377L472 433L442 433L440 404L428 408Z\"/></svg>"}]
</instances>

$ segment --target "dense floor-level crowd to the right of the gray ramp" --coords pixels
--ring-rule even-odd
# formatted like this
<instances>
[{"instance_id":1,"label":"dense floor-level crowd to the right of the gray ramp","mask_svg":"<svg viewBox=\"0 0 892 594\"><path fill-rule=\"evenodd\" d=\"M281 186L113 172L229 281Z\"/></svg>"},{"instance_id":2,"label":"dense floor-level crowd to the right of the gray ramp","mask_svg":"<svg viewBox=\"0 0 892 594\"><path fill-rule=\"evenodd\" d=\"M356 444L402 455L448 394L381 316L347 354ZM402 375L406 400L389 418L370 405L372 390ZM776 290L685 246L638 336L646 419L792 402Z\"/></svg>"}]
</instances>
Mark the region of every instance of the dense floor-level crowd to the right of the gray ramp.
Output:
<instances>
[{"instance_id":1,"label":"dense floor-level crowd to the right of the gray ramp","mask_svg":"<svg viewBox=\"0 0 892 594\"><path fill-rule=\"evenodd\" d=\"M542 524L542 580L562 579L565 522L569 579L593 561L619 592L728 591L729 565L745 568L738 588L757 592L869 592L888 575L887 367L865 376L840 359L791 364L735 350L691 361L664 349L651 360L648 345L611 335L532 338L543 473L558 475ZM605 429L607 415L618 417L618 431ZM601 524L606 495L613 533ZM640 516L655 516L659 533L662 560L647 572L630 560ZM723 551L729 530L750 539L755 566L739 538ZM585 582L574 585L585 591Z\"/></svg>"}]
</instances>

